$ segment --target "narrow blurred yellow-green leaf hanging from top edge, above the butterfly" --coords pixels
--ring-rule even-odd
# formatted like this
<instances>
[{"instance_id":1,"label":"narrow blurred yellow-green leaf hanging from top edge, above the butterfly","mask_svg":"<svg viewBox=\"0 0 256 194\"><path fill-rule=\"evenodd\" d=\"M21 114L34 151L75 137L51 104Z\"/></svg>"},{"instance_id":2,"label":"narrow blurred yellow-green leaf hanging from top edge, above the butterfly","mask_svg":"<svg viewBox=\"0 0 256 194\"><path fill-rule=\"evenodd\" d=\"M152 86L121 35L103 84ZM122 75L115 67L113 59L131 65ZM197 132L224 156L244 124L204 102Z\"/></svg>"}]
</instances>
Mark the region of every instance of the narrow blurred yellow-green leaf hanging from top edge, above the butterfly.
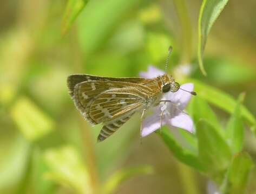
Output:
<instances>
[{"instance_id":1,"label":"narrow blurred yellow-green leaf hanging from top edge, above the butterfly","mask_svg":"<svg viewBox=\"0 0 256 194\"><path fill-rule=\"evenodd\" d=\"M89 0L68 0L62 19L62 34L65 34Z\"/></svg>"}]
</instances>

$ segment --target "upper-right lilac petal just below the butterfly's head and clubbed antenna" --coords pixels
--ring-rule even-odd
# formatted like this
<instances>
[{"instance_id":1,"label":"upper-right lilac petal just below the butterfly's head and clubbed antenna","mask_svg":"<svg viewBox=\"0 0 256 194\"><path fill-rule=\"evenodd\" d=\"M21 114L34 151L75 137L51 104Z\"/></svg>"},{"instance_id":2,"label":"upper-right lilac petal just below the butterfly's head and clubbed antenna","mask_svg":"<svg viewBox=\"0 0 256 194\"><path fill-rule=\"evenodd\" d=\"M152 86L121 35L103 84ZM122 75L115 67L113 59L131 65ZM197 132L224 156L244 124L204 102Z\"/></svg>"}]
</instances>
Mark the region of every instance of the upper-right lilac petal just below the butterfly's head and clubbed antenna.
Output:
<instances>
[{"instance_id":1,"label":"upper-right lilac petal just below the butterfly's head and clubbed antenna","mask_svg":"<svg viewBox=\"0 0 256 194\"><path fill-rule=\"evenodd\" d=\"M182 84L180 88L185 89L186 91L193 91L194 85L192 83ZM176 106L179 107L179 109L183 110L189 100L191 99L191 94L188 92L182 91L179 89L177 92L168 92L167 95L165 95L165 100L170 100L173 103L176 104ZM172 105L170 105L172 106Z\"/></svg>"}]
</instances>

